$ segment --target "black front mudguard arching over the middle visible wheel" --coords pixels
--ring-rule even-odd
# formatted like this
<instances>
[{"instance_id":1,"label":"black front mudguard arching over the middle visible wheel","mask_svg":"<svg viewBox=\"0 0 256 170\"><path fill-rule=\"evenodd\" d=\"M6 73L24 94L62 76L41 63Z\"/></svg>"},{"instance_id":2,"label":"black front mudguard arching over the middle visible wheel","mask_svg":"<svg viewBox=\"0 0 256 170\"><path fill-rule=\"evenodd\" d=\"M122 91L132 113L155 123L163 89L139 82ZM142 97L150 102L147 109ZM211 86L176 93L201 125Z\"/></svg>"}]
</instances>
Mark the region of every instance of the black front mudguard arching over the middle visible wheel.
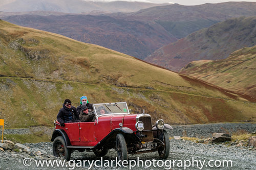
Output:
<instances>
[{"instance_id":1,"label":"black front mudguard arching over the middle visible wheel","mask_svg":"<svg viewBox=\"0 0 256 170\"><path fill-rule=\"evenodd\" d=\"M114 148L116 143L116 135L121 133L126 141L126 144L129 144L130 142L136 142L140 141L139 137L133 133L133 130L130 128L116 128L113 131L111 131L108 135L106 135L101 141L98 142L98 144L95 145L94 149L100 149L100 148Z\"/></svg>"}]
</instances>

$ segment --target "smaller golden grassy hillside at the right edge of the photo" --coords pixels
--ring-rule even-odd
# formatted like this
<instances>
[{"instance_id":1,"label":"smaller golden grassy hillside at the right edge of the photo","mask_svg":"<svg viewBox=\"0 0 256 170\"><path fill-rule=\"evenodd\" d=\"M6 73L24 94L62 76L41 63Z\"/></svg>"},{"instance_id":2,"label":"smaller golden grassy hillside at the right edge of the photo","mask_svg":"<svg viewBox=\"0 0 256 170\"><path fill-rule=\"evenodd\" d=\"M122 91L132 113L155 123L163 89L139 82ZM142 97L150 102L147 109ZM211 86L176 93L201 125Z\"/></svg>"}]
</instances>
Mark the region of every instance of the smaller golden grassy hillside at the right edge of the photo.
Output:
<instances>
[{"instance_id":1,"label":"smaller golden grassy hillside at the right edge of the photo","mask_svg":"<svg viewBox=\"0 0 256 170\"><path fill-rule=\"evenodd\" d=\"M253 46L233 52L223 60L190 62L181 72L256 99L255 68L256 46Z\"/></svg>"}]
</instances>

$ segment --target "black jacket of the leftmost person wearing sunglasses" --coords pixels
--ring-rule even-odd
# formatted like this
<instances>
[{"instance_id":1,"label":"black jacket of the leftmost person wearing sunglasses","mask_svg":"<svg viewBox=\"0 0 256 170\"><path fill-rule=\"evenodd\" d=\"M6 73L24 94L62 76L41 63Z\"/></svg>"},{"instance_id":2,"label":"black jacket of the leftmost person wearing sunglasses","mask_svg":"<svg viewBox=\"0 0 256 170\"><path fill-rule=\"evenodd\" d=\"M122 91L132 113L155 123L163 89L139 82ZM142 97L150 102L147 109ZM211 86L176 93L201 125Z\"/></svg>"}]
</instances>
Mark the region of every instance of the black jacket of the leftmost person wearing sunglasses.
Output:
<instances>
[{"instance_id":1,"label":"black jacket of the leftmost person wearing sunglasses","mask_svg":"<svg viewBox=\"0 0 256 170\"><path fill-rule=\"evenodd\" d=\"M71 106L70 109L67 108L65 104L63 104L62 106L63 107L59 110L59 113L57 115L57 120L60 124L67 122L77 122L77 120L79 120L79 115L74 106Z\"/></svg>"}]
</instances>

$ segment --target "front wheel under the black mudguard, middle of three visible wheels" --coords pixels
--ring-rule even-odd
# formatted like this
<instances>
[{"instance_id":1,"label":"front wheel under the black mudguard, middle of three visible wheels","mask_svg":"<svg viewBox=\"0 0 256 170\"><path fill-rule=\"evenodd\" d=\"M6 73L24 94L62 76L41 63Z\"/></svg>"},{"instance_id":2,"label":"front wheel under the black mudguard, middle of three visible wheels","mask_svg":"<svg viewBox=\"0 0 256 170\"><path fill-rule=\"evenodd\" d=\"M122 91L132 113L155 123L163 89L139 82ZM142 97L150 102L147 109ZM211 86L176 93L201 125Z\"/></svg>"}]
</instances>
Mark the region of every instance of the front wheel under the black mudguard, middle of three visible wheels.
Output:
<instances>
[{"instance_id":1,"label":"front wheel under the black mudguard, middle of three visible wheels","mask_svg":"<svg viewBox=\"0 0 256 170\"><path fill-rule=\"evenodd\" d=\"M116 151L118 160L127 160L127 146L121 133L116 135Z\"/></svg>"}]
</instances>

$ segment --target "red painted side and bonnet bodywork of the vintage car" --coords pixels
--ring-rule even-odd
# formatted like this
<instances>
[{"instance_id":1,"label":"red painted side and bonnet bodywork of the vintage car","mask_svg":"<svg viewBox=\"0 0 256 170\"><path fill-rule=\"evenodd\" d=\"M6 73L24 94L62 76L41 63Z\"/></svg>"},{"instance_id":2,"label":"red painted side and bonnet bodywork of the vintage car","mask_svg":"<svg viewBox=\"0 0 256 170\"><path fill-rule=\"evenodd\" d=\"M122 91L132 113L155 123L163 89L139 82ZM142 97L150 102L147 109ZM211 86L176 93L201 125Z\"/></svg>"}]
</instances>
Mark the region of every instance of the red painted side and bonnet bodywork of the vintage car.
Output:
<instances>
[{"instance_id":1,"label":"red painted side and bonnet bodywork of the vintage car","mask_svg":"<svg viewBox=\"0 0 256 170\"><path fill-rule=\"evenodd\" d=\"M101 116L94 122L68 123L65 127L61 127L56 122L55 129L62 129L69 136L72 146L88 146L94 147L112 130L119 128L119 123L123 123L125 127L136 131L136 116L138 114L129 115L106 115Z\"/></svg>"}]
</instances>

